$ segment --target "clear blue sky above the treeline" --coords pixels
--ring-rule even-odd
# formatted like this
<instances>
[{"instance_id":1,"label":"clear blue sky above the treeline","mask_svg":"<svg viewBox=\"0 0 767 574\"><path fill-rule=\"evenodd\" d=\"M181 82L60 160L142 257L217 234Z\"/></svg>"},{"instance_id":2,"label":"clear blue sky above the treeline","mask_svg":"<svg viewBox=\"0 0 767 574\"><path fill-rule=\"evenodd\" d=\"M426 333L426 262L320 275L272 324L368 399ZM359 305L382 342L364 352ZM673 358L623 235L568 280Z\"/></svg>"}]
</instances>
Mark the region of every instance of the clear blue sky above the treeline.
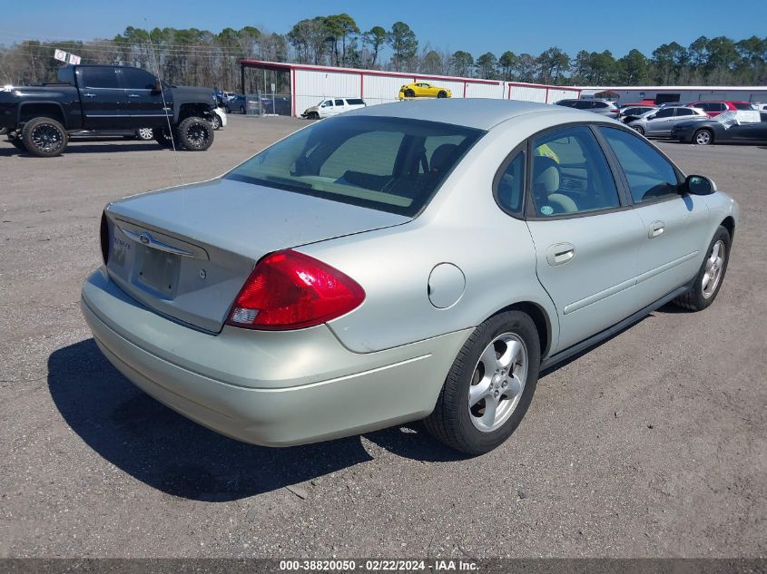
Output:
<instances>
[{"instance_id":1,"label":"clear blue sky above the treeline","mask_svg":"<svg viewBox=\"0 0 767 574\"><path fill-rule=\"evenodd\" d=\"M764 25L767 20L755 6L727 15L722 0L643 0L628 4L599 0L593 3L558 0L507 0L505 3L486 0L6 0L0 20L0 44L12 44L27 37L50 40L112 37L128 25L196 27L213 32L227 26L255 25L284 34L301 18L346 12L362 30L377 24L388 29L401 20L415 30L421 45L428 43L450 52L466 50L475 57L485 52L499 55L506 50L537 55L551 45L559 46L571 56L581 49L610 50L615 56L621 56L634 47L650 55L659 44L675 40L686 46L700 35L726 35L734 40L752 34L761 36L767 33ZM634 14L641 16L630 16Z\"/></svg>"}]
</instances>

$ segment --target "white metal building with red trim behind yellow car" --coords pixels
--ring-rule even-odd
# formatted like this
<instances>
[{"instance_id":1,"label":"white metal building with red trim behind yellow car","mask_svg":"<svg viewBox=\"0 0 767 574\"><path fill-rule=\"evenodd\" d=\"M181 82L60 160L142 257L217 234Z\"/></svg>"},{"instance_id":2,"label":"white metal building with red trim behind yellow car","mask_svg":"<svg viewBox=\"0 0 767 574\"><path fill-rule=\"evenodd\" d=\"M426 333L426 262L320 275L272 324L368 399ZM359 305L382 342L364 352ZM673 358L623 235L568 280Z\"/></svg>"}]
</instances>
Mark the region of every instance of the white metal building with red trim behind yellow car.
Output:
<instances>
[{"instance_id":1,"label":"white metal building with red trim behind yellow car","mask_svg":"<svg viewBox=\"0 0 767 574\"><path fill-rule=\"evenodd\" d=\"M290 83L291 114L300 115L310 106L329 97L363 98L368 105L398 101L399 88L405 83L438 83L452 92L454 98L496 98L527 102L556 102L577 98L580 89L540 83L503 82L354 68L334 68L297 63L241 60L241 92L246 93L246 73L270 73L272 83ZM274 79L277 78L277 81ZM279 89L279 88L278 88Z\"/></svg>"}]
</instances>

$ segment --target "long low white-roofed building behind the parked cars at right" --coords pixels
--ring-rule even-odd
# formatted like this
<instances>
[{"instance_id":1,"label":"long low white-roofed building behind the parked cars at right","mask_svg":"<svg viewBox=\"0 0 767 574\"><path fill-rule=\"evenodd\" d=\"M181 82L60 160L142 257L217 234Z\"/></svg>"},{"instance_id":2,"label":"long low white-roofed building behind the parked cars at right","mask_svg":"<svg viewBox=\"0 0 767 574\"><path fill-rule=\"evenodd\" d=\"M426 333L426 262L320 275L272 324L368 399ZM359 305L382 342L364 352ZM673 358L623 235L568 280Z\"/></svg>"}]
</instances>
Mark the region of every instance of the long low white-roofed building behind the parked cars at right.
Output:
<instances>
[{"instance_id":1,"label":"long low white-roofed building behind the parked cars at right","mask_svg":"<svg viewBox=\"0 0 767 574\"><path fill-rule=\"evenodd\" d=\"M618 103L767 102L767 86L582 86L582 98L609 98Z\"/></svg>"}]
</instances>

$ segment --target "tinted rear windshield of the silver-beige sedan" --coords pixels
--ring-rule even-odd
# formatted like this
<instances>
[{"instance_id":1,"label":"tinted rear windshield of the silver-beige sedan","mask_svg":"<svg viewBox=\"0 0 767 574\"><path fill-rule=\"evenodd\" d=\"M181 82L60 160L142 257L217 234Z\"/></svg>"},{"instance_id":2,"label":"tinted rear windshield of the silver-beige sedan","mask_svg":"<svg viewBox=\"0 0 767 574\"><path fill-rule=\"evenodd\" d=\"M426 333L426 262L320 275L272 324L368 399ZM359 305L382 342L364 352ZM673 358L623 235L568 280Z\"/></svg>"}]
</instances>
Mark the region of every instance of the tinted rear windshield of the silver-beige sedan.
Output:
<instances>
[{"instance_id":1,"label":"tinted rear windshield of the silver-beige sedan","mask_svg":"<svg viewBox=\"0 0 767 574\"><path fill-rule=\"evenodd\" d=\"M224 176L412 217L484 131L339 117L297 131Z\"/></svg>"}]
</instances>

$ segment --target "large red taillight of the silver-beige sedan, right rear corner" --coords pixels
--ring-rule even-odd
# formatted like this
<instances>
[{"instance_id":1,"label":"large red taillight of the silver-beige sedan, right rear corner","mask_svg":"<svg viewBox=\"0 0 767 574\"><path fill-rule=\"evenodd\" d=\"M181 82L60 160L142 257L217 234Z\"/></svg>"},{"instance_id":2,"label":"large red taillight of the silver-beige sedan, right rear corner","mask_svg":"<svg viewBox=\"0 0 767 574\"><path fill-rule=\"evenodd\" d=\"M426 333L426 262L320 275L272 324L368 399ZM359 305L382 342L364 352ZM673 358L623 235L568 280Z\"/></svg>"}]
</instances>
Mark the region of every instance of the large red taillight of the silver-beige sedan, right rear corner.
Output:
<instances>
[{"instance_id":1,"label":"large red taillight of the silver-beige sedan, right rear corner","mask_svg":"<svg viewBox=\"0 0 767 574\"><path fill-rule=\"evenodd\" d=\"M283 331L315 326L365 300L351 277L308 255L275 251L262 258L234 300L227 323Z\"/></svg>"}]
</instances>

